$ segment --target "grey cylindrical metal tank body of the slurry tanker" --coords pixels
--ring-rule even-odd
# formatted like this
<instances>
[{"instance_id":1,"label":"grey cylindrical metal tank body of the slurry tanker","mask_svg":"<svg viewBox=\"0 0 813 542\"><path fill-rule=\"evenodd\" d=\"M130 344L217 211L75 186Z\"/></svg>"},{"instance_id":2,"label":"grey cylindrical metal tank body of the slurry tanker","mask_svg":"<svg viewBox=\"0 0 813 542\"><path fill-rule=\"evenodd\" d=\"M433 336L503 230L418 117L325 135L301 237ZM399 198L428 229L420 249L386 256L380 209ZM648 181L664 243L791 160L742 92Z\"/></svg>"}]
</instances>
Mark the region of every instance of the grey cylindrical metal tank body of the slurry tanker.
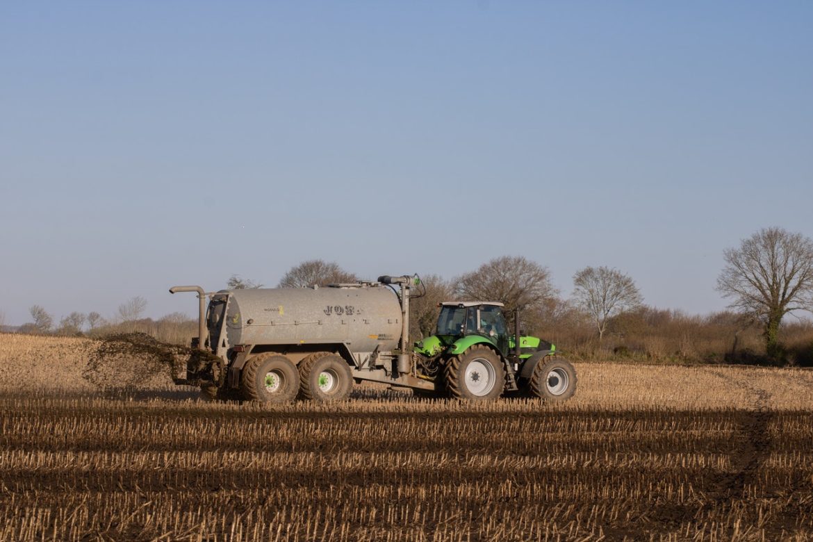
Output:
<instances>
[{"instance_id":1,"label":"grey cylindrical metal tank body of the slurry tanker","mask_svg":"<svg viewBox=\"0 0 813 542\"><path fill-rule=\"evenodd\" d=\"M383 286L223 290L229 345L346 343L388 352L401 336L398 297Z\"/></svg>"}]
</instances>

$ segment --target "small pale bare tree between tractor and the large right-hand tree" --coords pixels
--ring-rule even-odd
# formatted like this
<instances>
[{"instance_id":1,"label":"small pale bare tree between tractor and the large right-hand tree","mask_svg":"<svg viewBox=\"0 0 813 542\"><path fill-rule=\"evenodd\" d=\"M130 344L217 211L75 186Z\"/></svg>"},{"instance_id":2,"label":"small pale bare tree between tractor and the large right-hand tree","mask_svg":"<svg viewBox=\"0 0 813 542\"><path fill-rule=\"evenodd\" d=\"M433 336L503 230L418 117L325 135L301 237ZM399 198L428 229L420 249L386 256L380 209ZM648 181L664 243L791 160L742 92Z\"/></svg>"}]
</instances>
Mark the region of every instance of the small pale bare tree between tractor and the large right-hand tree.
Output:
<instances>
[{"instance_id":1,"label":"small pale bare tree between tractor and the large right-hand tree","mask_svg":"<svg viewBox=\"0 0 813 542\"><path fill-rule=\"evenodd\" d=\"M643 298L635 281L617 269L585 267L573 275L573 297L586 310L604 338L607 320L641 306Z\"/></svg>"}]
</instances>

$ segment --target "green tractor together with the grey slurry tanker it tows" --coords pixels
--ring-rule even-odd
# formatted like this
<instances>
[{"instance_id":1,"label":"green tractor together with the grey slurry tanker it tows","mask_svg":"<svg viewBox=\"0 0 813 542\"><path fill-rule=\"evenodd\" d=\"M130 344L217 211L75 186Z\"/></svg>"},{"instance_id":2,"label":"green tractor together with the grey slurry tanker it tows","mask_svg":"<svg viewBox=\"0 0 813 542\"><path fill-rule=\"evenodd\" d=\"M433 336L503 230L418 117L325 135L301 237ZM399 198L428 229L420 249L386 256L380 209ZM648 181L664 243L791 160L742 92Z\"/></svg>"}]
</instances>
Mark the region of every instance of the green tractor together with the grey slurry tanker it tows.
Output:
<instances>
[{"instance_id":1,"label":"green tractor together with the grey slurry tanker it tows","mask_svg":"<svg viewBox=\"0 0 813 542\"><path fill-rule=\"evenodd\" d=\"M422 286L418 275L216 293L175 286L171 293L198 294L192 346L202 355L173 379L210 397L263 402L341 401L364 380L474 401L576 392L571 363L554 345L520 336L519 310L511 332L499 302L443 302L435 334L410 345L410 298Z\"/></svg>"}]
</instances>

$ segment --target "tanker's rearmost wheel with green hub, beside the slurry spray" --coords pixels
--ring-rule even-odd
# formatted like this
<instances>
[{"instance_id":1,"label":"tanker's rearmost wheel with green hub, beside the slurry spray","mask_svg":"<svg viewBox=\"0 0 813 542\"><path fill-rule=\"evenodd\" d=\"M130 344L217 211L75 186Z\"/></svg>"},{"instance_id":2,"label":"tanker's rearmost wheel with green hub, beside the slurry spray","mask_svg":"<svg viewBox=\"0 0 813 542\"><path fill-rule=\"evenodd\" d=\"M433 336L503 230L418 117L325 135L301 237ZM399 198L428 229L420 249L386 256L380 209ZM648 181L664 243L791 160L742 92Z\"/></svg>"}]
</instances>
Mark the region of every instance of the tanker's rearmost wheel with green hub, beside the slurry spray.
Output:
<instances>
[{"instance_id":1,"label":"tanker's rearmost wheel with green hub, beside the slurry spray","mask_svg":"<svg viewBox=\"0 0 813 542\"><path fill-rule=\"evenodd\" d=\"M293 401L299 389L297 366L279 353L261 353L246 362L240 390L249 401L284 403Z\"/></svg>"}]
</instances>

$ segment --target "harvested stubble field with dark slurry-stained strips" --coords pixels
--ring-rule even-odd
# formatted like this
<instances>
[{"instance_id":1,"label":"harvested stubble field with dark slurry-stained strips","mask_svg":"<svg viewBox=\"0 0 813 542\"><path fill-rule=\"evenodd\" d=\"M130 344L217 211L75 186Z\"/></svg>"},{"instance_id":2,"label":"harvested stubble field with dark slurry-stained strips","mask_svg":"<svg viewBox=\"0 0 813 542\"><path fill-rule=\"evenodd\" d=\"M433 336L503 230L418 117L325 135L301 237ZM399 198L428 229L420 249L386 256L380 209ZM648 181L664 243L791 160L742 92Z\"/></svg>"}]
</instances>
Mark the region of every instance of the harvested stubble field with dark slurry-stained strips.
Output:
<instances>
[{"instance_id":1,"label":"harvested stubble field with dark slurry-stained strips","mask_svg":"<svg viewBox=\"0 0 813 542\"><path fill-rule=\"evenodd\" d=\"M813 373L578 364L564 405L198 401L0 335L0 540L813 540Z\"/></svg>"}]
</instances>

